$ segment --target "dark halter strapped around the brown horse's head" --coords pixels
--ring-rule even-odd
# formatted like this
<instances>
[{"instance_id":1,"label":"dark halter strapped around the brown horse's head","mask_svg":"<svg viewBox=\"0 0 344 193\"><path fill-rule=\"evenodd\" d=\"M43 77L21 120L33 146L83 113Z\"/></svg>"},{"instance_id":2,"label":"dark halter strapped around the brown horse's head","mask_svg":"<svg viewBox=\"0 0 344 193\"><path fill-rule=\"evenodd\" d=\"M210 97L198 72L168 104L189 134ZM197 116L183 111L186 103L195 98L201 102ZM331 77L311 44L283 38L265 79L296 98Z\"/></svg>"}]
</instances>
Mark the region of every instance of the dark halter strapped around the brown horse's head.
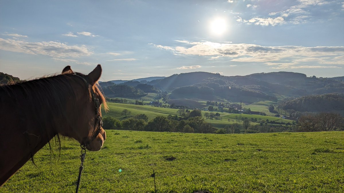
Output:
<instances>
[{"instance_id":1,"label":"dark halter strapped around the brown horse's head","mask_svg":"<svg viewBox=\"0 0 344 193\"><path fill-rule=\"evenodd\" d=\"M90 84L87 82L86 78L87 77L82 77L80 76L78 73L74 72L74 75L82 78L84 80L84 82L86 83L86 86L89 88ZM92 101L94 102L94 106L95 106L95 110L96 110L96 120L94 123L94 129L96 129L96 132L94 133L94 135L90 138L91 140L87 141L88 137L84 137L82 140L82 144L80 144L81 148L86 150L87 146L92 143L93 140L95 140L98 136L98 134L100 133L101 127L103 126L103 120L100 116L100 112L99 112L99 107L100 107L100 102L99 99L96 97L96 94L94 93L93 89L90 88L90 93L92 96ZM99 126L98 126L99 125Z\"/></svg>"}]
</instances>

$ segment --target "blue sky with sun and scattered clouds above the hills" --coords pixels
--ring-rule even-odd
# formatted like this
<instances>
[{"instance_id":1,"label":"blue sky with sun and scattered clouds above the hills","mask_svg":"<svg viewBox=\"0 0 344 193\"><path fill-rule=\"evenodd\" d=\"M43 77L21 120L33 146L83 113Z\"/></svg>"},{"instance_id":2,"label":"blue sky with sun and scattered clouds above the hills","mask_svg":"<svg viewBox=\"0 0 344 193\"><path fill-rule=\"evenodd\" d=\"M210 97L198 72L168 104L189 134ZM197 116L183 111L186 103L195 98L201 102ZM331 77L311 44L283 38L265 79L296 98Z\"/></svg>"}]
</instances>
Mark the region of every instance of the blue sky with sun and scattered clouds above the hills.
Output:
<instances>
[{"instance_id":1,"label":"blue sky with sun and scattered clouds above the hills","mask_svg":"<svg viewBox=\"0 0 344 193\"><path fill-rule=\"evenodd\" d=\"M344 0L0 0L0 71L344 76Z\"/></svg>"}]
</instances>

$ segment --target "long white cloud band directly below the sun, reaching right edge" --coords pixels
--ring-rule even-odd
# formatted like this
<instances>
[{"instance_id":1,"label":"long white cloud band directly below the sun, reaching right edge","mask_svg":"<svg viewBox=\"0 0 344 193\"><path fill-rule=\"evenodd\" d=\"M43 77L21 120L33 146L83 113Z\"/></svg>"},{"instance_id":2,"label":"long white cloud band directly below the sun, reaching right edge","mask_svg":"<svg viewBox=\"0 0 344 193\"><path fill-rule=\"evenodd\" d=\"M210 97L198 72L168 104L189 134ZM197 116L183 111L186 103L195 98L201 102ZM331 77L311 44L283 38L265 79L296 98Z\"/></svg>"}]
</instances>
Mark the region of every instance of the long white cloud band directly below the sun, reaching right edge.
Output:
<instances>
[{"instance_id":1,"label":"long white cloud band directly below the sun, reaching right edge","mask_svg":"<svg viewBox=\"0 0 344 193\"><path fill-rule=\"evenodd\" d=\"M230 61L244 63L262 63L267 66L284 67L344 65L344 46L260 46L256 44L229 44L214 42L190 42L193 46L156 46L160 49L170 50L176 55L202 56L209 60L230 58ZM305 65L307 64L307 65ZM193 67L194 68L194 67ZM318 67L319 68L319 67ZM180 67L178 69L191 69Z\"/></svg>"}]
</instances>

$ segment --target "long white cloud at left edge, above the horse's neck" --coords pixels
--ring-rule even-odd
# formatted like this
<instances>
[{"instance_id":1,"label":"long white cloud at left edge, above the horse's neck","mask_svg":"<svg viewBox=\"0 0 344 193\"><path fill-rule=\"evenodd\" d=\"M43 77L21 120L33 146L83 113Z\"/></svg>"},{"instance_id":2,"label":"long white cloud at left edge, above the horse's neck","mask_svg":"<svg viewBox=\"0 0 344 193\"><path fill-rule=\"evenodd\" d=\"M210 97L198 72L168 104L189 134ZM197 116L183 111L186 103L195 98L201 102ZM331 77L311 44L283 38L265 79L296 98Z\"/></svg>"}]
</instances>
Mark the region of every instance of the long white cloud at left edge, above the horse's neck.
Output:
<instances>
[{"instance_id":1,"label":"long white cloud at left edge, above the horse's neck","mask_svg":"<svg viewBox=\"0 0 344 193\"><path fill-rule=\"evenodd\" d=\"M85 45L67 45L60 42L26 42L0 38L0 49L34 55L46 55L54 58L90 56L93 54Z\"/></svg>"}]
</instances>

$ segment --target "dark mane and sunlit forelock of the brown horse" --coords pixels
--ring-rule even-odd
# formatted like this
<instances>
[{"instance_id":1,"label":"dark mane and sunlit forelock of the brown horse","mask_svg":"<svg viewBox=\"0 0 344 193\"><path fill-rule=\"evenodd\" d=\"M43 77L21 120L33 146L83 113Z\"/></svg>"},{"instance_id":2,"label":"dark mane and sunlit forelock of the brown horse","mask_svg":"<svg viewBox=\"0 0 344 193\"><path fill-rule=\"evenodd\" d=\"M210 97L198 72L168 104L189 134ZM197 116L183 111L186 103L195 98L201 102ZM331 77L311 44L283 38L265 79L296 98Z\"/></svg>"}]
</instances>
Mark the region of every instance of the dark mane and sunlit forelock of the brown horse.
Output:
<instances>
[{"instance_id":1,"label":"dark mane and sunlit forelock of the brown horse","mask_svg":"<svg viewBox=\"0 0 344 193\"><path fill-rule=\"evenodd\" d=\"M14 104L12 108L17 111L21 111L20 108L22 106L29 107L29 109L27 109L29 112L20 112L20 116L30 117L34 115L37 120L40 120L37 125L42 132L49 127L57 130L62 120L71 120L66 117L66 101L69 100L69 102L71 102L69 104L72 104L72 106L77 105L76 96L80 94L80 90L75 89L73 85L88 89L90 101L92 101L90 89L93 89L99 102L104 105L106 111L108 110L105 97L98 88L98 82L92 86L85 82L85 80L87 80L86 75L73 72L0 86L0 104L12 101L12 104ZM30 105L28 105L28 103ZM49 109L49 113L40 113L42 108ZM28 115L28 113L31 115ZM70 123L72 128L78 121L81 120L75 120L73 123ZM27 129L23 128L23 131L25 130ZM90 135L92 135L92 133ZM56 141L61 149L61 142L58 134L57 140L55 136L55 142Z\"/></svg>"}]
</instances>

